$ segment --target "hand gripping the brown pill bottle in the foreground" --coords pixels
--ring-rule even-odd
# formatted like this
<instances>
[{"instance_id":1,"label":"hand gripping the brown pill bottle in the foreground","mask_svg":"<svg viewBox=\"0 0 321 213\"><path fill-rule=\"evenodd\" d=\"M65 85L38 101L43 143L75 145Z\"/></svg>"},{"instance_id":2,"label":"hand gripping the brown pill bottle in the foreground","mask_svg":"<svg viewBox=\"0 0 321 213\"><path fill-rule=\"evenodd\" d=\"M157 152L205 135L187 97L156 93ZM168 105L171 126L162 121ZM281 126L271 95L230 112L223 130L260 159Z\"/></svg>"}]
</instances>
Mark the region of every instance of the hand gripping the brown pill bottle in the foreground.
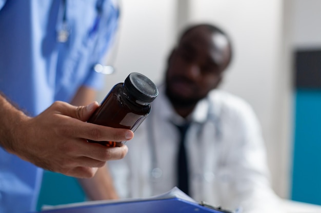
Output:
<instances>
[{"instance_id":1,"label":"hand gripping the brown pill bottle in the foreground","mask_svg":"<svg viewBox=\"0 0 321 213\"><path fill-rule=\"evenodd\" d=\"M88 143L87 139L124 141L133 137L128 129L86 123L97 107L97 102L79 107L55 102L38 116L24 116L16 122L12 142L4 148L46 170L78 178L93 177L107 160L123 158L128 148L109 148Z\"/></svg>"}]
</instances>

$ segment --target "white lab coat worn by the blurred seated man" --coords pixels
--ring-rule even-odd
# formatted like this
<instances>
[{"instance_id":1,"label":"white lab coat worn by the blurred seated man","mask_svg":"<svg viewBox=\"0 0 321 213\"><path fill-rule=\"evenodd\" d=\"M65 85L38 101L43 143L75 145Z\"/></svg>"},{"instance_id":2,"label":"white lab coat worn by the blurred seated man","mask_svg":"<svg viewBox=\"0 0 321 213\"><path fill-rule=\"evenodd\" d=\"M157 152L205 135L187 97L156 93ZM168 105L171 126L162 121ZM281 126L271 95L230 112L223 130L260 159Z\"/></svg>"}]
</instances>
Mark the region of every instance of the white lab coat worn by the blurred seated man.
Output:
<instances>
[{"instance_id":1,"label":"white lab coat worn by the blurred seated man","mask_svg":"<svg viewBox=\"0 0 321 213\"><path fill-rule=\"evenodd\" d=\"M190 196L230 210L278 212L262 134L251 107L232 94L213 90L189 119ZM169 121L182 120L166 98L164 87L159 87L151 113L126 143L127 156L109 162L121 197L150 197L176 185L179 135Z\"/></svg>"}]
</instances>

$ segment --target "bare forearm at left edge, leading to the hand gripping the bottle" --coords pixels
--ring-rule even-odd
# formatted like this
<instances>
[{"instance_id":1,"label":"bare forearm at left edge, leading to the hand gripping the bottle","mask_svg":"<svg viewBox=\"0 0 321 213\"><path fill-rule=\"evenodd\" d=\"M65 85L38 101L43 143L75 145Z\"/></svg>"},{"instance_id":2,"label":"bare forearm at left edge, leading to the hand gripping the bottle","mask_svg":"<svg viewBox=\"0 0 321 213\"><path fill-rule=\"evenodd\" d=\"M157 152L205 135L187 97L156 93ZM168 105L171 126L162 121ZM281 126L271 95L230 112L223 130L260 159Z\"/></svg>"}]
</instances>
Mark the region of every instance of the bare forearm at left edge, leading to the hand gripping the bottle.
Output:
<instances>
[{"instance_id":1,"label":"bare forearm at left edge, leading to the hand gripping the bottle","mask_svg":"<svg viewBox=\"0 0 321 213\"><path fill-rule=\"evenodd\" d=\"M16 130L19 124L28 118L21 110L14 107L2 94L0 94L0 146L10 153L14 153L18 135Z\"/></svg>"}]
</instances>

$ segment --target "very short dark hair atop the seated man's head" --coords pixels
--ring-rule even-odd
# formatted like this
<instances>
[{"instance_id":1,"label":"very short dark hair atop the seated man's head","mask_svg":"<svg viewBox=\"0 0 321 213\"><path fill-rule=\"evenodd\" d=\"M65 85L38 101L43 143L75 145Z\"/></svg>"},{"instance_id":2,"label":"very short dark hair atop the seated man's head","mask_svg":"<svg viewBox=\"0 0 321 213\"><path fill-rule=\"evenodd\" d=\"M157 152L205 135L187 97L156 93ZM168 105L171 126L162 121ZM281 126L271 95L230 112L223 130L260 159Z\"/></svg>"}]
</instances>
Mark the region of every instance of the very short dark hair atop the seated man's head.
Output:
<instances>
[{"instance_id":1,"label":"very short dark hair atop the seated man's head","mask_svg":"<svg viewBox=\"0 0 321 213\"><path fill-rule=\"evenodd\" d=\"M219 33L222 34L224 37L226 37L228 43L229 43L229 48L230 48L230 60L229 60L229 64L231 64L232 61L232 56L233 56L233 49L232 49L232 41L230 39L230 36L223 30L220 29L217 26L212 25L211 23L197 23L197 24L193 24L193 25L189 25L187 26L180 34L177 40L177 45L180 43L180 41L182 41L182 39L184 38L185 35L187 35L189 32L191 32L192 30L194 30L195 28L198 27L204 27L206 28L209 33Z\"/></svg>"}]
</instances>

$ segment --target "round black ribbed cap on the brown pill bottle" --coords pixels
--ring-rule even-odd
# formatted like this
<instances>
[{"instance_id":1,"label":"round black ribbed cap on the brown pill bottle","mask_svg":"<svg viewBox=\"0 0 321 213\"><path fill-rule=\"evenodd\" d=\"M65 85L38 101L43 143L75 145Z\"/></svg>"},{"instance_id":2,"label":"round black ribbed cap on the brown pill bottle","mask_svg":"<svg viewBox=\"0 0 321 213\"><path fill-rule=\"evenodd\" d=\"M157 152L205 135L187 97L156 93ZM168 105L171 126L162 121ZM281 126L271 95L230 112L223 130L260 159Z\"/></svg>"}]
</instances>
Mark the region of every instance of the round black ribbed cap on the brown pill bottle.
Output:
<instances>
[{"instance_id":1,"label":"round black ribbed cap on the brown pill bottle","mask_svg":"<svg viewBox=\"0 0 321 213\"><path fill-rule=\"evenodd\" d=\"M151 103L158 96L156 85L139 73L129 74L125 79L124 86L131 96L142 102Z\"/></svg>"}]
</instances>

